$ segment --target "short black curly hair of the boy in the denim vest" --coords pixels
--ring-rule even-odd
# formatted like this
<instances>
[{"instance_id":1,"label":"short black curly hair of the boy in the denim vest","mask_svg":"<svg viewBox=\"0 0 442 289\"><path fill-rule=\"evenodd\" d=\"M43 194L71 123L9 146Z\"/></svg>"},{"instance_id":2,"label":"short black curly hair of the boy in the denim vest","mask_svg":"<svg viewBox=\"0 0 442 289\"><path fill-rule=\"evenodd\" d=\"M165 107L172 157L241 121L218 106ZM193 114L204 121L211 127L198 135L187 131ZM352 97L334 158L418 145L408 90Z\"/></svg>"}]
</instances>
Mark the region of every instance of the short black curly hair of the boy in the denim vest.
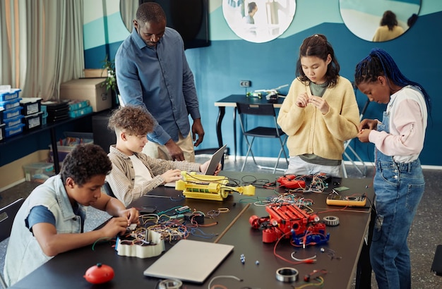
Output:
<instances>
[{"instance_id":1,"label":"short black curly hair of the boy in the denim vest","mask_svg":"<svg viewBox=\"0 0 442 289\"><path fill-rule=\"evenodd\" d=\"M72 178L78 186L98 175L106 176L112 170L112 163L106 152L97 144L78 144L61 165L63 183Z\"/></svg>"}]
</instances>

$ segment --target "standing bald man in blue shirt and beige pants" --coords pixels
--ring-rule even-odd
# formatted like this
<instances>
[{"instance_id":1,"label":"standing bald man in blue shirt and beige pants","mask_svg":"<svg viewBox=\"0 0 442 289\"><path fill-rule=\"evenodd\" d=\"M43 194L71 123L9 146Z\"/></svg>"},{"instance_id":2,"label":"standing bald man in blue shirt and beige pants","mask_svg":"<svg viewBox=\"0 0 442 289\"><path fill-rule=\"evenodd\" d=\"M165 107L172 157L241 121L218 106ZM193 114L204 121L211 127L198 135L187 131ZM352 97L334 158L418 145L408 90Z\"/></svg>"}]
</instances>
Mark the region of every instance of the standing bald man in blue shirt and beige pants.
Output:
<instances>
[{"instance_id":1,"label":"standing bald man in blue shirt and beige pants","mask_svg":"<svg viewBox=\"0 0 442 289\"><path fill-rule=\"evenodd\" d=\"M143 105L155 118L143 152L153 158L194 162L193 146L203 142L204 130L183 39L166 27L165 12L155 2L138 7L133 26L117 51L115 70L122 104Z\"/></svg>"}]
</instances>

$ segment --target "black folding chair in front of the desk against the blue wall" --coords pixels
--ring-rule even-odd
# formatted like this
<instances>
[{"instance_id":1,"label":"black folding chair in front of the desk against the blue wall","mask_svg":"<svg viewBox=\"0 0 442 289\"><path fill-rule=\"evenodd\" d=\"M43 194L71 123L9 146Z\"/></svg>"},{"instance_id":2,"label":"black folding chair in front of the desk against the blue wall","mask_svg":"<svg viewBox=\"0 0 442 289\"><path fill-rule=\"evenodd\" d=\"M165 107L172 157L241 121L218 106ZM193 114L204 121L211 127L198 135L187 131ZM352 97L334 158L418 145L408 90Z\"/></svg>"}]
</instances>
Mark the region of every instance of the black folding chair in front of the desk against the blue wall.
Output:
<instances>
[{"instance_id":1,"label":"black folding chair in front of the desk against the blue wall","mask_svg":"<svg viewBox=\"0 0 442 289\"><path fill-rule=\"evenodd\" d=\"M273 104L243 104L237 102L237 110L239 113L239 123L241 124L241 131L247 143L246 159L244 159L244 164L242 165L241 171L244 171L244 167L246 166L246 161L247 158L249 157L249 154L251 154L253 162L256 164L255 156L253 155L251 149L255 137L277 138L281 146L280 152L277 155L276 164L273 168L270 166L260 166L258 164L256 164L256 166L258 166L258 168L271 169L273 170L273 173L275 173L276 170L284 171L281 168L277 168L277 165L280 163L280 158L282 154L284 154L285 156L285 162L287 163L287 166L289 164L289 161L287 160L287 154L285 153L285 148L284 148L285 142L287 140L287 135L285 135L282 129L277 125L276 113ZM271 127L258 126L256 128L246 130L244 122L246 121L246 118L249 115L268 116L268 118L272 119L273 126ZM249 137L251 137L250 142L249 142Z\"/></svg>"}]
</instances>

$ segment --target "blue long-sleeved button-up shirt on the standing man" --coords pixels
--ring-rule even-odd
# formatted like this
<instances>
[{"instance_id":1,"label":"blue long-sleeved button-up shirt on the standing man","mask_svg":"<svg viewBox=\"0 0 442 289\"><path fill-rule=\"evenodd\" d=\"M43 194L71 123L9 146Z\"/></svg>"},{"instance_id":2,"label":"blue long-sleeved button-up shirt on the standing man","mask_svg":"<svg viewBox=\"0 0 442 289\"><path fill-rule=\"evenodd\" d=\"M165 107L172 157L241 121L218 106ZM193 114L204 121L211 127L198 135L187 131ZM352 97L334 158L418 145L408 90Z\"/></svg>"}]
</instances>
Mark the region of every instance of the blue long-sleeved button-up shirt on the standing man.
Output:
<instances>
[{"instance_id":1,"label":"blue long-sleeved button-up shirt on the standing man","mask_svg":"<svg viewBox=\"0 0 442 289\"><path fill-rule=\"evenodd\" d=\"M193 73L176 30L166 27L156 47L148 47L136 29L115 56L117 85L124 105L145 105L155 118L148 140L165 144L190 133L191 118L201 118Z\"/></svg>"}]
</instances>

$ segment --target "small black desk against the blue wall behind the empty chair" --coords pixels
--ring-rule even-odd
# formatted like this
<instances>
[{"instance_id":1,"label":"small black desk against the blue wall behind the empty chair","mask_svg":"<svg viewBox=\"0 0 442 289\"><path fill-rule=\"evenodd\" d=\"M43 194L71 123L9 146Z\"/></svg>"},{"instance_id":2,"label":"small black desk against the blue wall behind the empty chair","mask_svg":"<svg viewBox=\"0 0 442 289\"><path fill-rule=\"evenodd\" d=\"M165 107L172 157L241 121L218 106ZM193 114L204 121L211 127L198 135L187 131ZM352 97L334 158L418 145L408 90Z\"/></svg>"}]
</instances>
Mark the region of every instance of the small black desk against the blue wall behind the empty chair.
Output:
<instances>
[{"instance_id":1,"label":"small black desk against the blue wall behind the empty chair","mask_svg":"<svg viewBox=\"0 0 442 289\"><path fill-rule=\"evenodd\" d=\"M284 101L284 98L278 97L277 103L273 104L273 107L275 109L280 108L282 102ZM216 121L216 133L217 133L217 139L218 139L218 145L219 147L222 147L224 145L224 142L222 142L222 131L221 131L221 125L222 125L222 119L225 116L226 113L226 107L233 107L233 137L234 137L234 156L235 160L237 159L237 102L241 102L244 104L268 104L269 102L267 99L265 99L265 96L263 96L261 99L258 97L246 97L245 94L232 94L228 97L225 97L223 99L220 99L219 101L215 102L215 106L218 106L218 117Z\"/></svg>"}]
</instances>

